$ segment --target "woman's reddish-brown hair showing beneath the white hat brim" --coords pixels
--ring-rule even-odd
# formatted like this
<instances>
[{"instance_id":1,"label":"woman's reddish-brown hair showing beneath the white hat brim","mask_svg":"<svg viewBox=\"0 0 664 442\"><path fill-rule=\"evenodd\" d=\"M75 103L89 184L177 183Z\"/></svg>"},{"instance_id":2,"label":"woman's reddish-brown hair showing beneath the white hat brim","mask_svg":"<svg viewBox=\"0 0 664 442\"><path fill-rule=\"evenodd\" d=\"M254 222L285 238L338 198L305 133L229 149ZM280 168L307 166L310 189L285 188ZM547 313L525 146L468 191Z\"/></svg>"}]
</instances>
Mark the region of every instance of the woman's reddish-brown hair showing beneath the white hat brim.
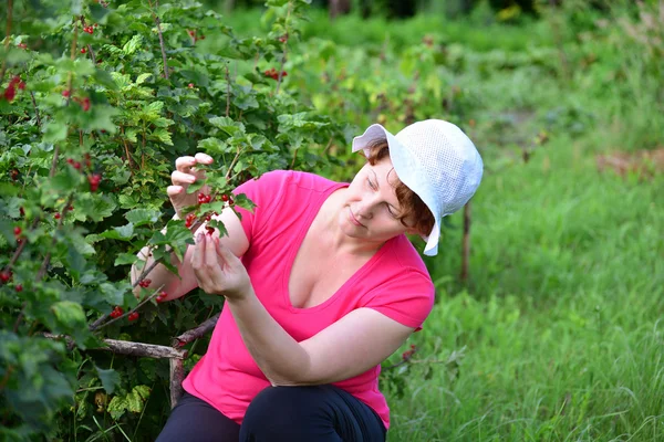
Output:
<instances>
[{"instance_id":1,"label":"woman's reddish-brown hair showing beneath the white hat brim","mask_svg":"<svg viewBox=\"0 0 664 442\"><path fill-rule=\"evenodd\" d=\"M390 156L390 145L384 138L370 143L367 147L369 156L366 157L366 160L372 166ZM421 234L428 235L435 223L432 211L426 207L422 199L403 182L398 181L395 190L396 199L402 208L402 213L398 217L401 223L407 228L417 230ZM415 220L414 225L406 224L405 219L409 217Z\"/></svg>"}]
</instances>

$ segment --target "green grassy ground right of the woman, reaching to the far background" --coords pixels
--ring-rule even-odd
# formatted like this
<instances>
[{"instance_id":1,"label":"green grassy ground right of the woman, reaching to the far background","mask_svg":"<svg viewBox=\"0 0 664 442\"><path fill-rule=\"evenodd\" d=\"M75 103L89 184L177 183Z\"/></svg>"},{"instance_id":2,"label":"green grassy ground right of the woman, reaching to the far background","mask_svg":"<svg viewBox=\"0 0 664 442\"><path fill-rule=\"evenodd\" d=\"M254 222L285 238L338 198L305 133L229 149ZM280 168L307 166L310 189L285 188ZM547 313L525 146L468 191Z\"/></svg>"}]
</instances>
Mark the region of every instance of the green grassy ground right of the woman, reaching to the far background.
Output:
<instances>
[{"instance_id":1,"label":"green grassy ground right of the woman, reaching to the far background","mask_svg":"<svg viewBox=\"0 0 664 442\"><path fill-rule=\"evenodd\" d=\"M331 25L315 13L304 28L305 38L372 50L388 42L397 53L429 32L460 44L463 66L442 75L468 95L465 116L477 122L470 136L485 158L470 281L457 281L456 214L439 255L426 259L437 304L408 343L419 359L463 349L458 373L414 364L403 394L383 385L388 440L662 441L664 177L622 178L595 164L600 152L662 145L656 66L618 28L584 42L566 31L573 71L564 81L551 70L560 53L546 20L473 20L351 15ZM541 63L522 63L528 51ZM584 65L589 54L596 62ZM520 148L542 129L550 143L523 164Z\"/></svg>"}]
</instances>

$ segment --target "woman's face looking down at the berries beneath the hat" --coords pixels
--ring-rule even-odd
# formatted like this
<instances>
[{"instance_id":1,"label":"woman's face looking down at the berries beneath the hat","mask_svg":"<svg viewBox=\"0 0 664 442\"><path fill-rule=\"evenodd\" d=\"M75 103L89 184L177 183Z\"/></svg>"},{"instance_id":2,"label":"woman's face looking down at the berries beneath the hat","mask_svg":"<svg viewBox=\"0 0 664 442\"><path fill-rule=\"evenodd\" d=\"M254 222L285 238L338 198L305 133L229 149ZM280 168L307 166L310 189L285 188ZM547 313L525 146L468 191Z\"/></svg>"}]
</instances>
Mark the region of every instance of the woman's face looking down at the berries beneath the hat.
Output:
<instances>
[{"instance_id":1,"label":"woman's face looking down at the berries beneath the hat","mask_svg":"<svg viewBox=\"0 0 664 442\"><path fill-rule=\"evenodd\" d=\"M369 162L355 175L346 190L339 223L349 236L385 242L402 233L415 233L400 221L402 208L396 198L398 177L390 157ZM408 225L413 220L406 219Z\"/></svg>"}]
</instances>

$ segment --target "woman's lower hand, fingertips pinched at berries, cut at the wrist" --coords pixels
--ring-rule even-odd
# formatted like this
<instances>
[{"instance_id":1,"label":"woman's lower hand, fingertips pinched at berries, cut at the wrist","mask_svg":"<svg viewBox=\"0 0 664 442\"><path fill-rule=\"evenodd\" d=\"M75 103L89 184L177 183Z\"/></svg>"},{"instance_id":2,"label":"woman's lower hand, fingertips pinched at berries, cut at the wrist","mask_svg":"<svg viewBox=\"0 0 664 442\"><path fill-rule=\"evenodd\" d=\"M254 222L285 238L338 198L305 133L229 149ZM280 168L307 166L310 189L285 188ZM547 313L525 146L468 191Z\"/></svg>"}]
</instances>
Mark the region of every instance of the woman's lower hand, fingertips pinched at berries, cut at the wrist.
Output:
<instances>
[{"instance_id":1,"label":"woman's lower hand, fingertips pinched at berries, cut at the wrist","mask_svg":"<svg viewBox=\"0 0 664 442\"><path fill-rule=\"evenodd\" d=\"M191 267L198 286L210 295L242 299L251 288L247 269L216 234L199 233L191 255Z\"/></svg>"}]
</instances>

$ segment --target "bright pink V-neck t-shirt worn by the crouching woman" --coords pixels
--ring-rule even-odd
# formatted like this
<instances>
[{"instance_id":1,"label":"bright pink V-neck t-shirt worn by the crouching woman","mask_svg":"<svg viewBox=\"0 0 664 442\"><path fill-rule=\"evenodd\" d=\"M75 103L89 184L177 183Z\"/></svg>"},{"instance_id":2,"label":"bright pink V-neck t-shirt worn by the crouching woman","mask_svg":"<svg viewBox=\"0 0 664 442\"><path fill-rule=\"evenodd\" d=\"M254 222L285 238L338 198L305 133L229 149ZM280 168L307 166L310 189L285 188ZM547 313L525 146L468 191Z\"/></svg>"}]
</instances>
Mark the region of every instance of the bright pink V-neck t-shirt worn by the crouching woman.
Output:
<instances>
[{"instance_id":1,"label":"bright pink V-neck t-shirt worn by the crouching woman","mask_svg":"<svg viewBox=\"0 0 664 442\"><path fill-rule=\"evenodd\" d=\"M361 307L373 308L408 327L421 329L434 305L434 285L415 248L405 235L387 241L324 303L295 308L288 282L295 254L325 199L347 187L317 175L277 170L236 189L257 207L238 209L249 239L242 263L257 297L295 340L302 341ZM334 386L369 404L390 428L390 409L378 391L381 366ZM183 387L238 423L249 402L270 382L242 343L229 308L224 308L207 354Z\"/></svg>"}]
</instances>

